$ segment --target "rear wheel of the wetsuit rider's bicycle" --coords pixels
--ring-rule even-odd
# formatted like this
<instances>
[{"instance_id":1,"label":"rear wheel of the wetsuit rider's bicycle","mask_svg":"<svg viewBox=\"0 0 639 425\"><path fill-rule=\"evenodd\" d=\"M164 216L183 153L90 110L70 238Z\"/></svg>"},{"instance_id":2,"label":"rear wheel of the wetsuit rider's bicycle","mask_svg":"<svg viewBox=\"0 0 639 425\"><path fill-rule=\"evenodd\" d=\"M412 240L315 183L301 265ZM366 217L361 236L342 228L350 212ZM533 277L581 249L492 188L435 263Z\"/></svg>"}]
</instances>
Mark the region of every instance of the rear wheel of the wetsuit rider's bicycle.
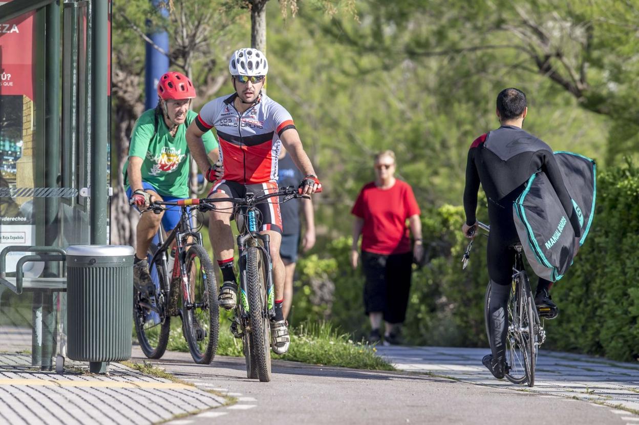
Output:
<instances>
[{"instance_id":1,"label":"rear wheel of the wetsuit rider's bicycle","mask_svg":"<svg viewBox=\"0 0 639 425\"><path fill-rule=\"evenodd\" d=\"M534 316L530 303L530 290L526 290L526 278L516 277L512 284L508 302L507 362L506 378L512 383L528 383L532 387L534 378L535 332Z\"/></svg>"}]
</instances>

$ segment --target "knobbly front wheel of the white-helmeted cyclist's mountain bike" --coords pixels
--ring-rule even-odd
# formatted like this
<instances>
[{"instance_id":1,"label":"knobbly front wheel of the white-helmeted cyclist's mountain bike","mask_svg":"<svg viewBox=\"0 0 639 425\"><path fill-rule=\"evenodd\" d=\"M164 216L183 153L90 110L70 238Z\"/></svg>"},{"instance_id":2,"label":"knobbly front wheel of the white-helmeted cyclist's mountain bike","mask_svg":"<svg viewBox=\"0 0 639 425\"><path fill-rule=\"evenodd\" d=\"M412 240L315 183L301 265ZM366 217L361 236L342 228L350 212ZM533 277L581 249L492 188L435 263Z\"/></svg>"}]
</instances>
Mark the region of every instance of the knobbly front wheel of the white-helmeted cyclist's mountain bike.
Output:
<instances>
[{"instance_id":1,"label":"knobbly front wheel of the white-helmeted cyclist's mountain bike","mask_svg":"<svg viewBox=\"0 0 639 425\"><path fill-rule=\"evenodd\" d=\"M261 382L271 380L270 325L266 304L266 272L257 247L248 247L246 254L247 290L249 291L250 353Z\"/></svg>"}]
</instances>

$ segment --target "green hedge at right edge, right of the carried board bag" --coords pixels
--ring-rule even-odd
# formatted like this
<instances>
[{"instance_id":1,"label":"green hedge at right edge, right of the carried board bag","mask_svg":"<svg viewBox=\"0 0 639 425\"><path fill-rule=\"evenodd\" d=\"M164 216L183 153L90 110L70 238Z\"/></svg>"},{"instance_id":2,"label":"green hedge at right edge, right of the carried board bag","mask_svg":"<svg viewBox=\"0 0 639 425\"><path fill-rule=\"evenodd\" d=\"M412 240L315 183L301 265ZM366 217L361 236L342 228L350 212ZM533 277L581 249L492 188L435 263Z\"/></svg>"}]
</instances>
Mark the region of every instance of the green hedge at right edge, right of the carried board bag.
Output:
<instances>
[{"instance_id":1,"label":"green hedge at right edge, right of the carried board bag","mask_svg":"<svg viewBox=\"0 0 639 425\"><path fill-rule=\"evenodd\" d=\"M597 178L597 210L574 265L553 285L560 316L549 346L633 360L639 355L639 169L615 167Z\"/></svg>"}]
</instances>

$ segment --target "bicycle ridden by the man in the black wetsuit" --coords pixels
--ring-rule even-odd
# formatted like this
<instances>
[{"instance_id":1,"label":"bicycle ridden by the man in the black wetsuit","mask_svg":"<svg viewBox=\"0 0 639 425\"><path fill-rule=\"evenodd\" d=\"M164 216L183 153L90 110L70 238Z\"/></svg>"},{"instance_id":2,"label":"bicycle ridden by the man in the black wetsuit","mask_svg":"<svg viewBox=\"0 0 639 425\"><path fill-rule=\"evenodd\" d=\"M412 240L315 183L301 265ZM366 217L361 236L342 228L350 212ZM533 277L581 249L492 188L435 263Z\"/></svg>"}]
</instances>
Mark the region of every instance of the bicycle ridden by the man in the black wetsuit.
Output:
<instances>
[{"instance_id":1,"label":"bicycle ridden by the man in the black wetsuit","mask_svg":"<svg viewBox=\"0 0 639 425\"><path fill-rule=\"evenodd\" d=\"M479 222L479 228L489 233L490 227ZM463 268L468 265L473 240L470 241L462 258ZM511 293L508 298L508 330L506 336L506 378L512 383L526 383L528 387L535 385L535 365L537 350L546 341L546 331L539 319L535 300L530 291L528 274L523 266L521 243L512 245L515 251L515 262L512 267ZM488 306L490 304L491 282L486 287L484 299L484 323L486 335L491 341ZM492 347L491 347L492 348Z\"/></svg>"}]
</instances>

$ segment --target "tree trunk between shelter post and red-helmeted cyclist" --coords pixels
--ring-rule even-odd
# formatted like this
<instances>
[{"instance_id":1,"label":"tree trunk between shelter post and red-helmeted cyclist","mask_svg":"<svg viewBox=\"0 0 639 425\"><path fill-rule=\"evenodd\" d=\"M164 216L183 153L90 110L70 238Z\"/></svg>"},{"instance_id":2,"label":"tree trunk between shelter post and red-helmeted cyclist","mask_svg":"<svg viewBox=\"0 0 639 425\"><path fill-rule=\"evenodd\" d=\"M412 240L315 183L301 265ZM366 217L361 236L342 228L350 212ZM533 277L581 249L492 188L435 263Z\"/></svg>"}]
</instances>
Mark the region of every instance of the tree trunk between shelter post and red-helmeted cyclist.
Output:
<instances>
[{"instance_id":1,"label":"tree trunk between shelter post and red-helmeted cyclist","mask_svg":"<svg viewBox=\"0 0 639 425\"><path fill-rule=\"evenodd\" d=\"M117 184L113 188L113 197L111 198L112 245L135 247L135 226L139 220L139 213L128 205L122 171L128 158L128 146L135 120L144 109L144 105L140 101L139 78L135 73L123 72L119 69L115 69L112 74L112 98L116 122L113 139L118 161Z\"/></svg>"}]
</instances>

